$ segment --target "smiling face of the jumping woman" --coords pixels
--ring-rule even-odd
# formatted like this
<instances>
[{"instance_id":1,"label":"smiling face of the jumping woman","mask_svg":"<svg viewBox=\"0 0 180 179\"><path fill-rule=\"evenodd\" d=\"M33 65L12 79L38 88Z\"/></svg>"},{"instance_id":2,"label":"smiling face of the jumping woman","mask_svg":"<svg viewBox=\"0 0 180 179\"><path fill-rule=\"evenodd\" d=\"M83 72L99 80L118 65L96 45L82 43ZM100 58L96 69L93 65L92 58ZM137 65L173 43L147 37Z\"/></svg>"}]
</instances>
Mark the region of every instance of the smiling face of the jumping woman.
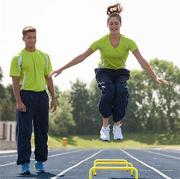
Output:
<instances>
[{"instance_id":1,"label":"smiling face of the jumping woman","mask_svg":"<svg viewBox=\"0 0 180 179\"><path fill-rule=\"evenodd\" d=\"M107 26L111 34L119 34L121 23L117 17L111 17Z\"/></svg>"}]
</instances>

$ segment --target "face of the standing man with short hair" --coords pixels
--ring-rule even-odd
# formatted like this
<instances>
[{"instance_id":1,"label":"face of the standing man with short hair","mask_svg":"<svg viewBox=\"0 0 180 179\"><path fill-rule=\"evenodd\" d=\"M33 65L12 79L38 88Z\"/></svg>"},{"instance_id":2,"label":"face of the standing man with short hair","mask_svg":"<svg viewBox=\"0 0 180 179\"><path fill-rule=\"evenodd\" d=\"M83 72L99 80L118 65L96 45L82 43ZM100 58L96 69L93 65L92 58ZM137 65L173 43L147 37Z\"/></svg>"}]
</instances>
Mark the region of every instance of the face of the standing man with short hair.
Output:
<instances>
[{"instance_id":1,"label":"face of the standing man with short hair","mask_svg":"<svg viewBox=\"0 0 180 179\"><path fill-rule=\"evenodd\" d=\"M27 32L23 36L23 41L25 42L27 49L35 49L36 45L36 32Z\"/></svg>"}]
</instances>

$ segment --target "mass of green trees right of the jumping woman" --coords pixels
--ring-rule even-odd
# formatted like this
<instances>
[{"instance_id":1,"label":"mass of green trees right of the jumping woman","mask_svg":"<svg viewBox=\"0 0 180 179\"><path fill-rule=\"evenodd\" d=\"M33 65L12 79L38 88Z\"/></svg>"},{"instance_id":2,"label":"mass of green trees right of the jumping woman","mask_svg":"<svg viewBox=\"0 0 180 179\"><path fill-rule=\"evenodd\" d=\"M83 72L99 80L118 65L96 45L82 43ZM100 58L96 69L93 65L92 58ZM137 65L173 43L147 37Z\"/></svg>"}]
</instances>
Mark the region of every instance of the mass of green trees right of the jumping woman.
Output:
<instances>
[{"instance_id":1,"label":"mass of green trees right of the jumping woman","mask_svg":"<svg viewBox=\"0 0 180 179\"><path fill-rule=\"evenodd\" d=\"M180 71L166 60L153 59L150 64L170 85L160 86L145 71L131 72L126 129L174 131L180 122Z\"/></svg>"}]
</instances>

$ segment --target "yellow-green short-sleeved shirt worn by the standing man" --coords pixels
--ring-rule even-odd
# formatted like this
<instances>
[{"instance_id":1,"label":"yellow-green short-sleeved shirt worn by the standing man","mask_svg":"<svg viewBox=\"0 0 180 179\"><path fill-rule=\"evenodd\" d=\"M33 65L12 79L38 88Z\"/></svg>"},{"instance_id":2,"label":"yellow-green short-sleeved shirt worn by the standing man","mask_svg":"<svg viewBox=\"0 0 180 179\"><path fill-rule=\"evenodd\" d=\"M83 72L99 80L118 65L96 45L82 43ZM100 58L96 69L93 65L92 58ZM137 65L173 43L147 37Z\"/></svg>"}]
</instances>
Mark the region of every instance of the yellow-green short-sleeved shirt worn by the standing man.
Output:
<instances>
[{"instance_id":1,"label":"yellow-green short-sleeved shirt worn by the standing man","mask_svg":"<svg viewBox=\"0 0 180 179\"><path fill-rule=\"evenodd\" d=\"M46 90L47 76L52 71L49 56L40 50L23 49L11 62L10 76L19 77L21 90Z\"/></svg>"}]
</instances>

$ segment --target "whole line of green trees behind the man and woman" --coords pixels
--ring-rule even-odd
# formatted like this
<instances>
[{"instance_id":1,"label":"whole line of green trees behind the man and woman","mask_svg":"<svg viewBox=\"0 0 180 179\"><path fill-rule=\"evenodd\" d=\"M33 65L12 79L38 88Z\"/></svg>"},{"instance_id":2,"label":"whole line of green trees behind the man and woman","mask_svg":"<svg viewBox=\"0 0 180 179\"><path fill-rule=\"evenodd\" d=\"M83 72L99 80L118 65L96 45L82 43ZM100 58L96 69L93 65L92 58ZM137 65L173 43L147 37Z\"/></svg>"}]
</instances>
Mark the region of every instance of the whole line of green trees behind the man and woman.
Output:
<instances>
[{"instance_id":1,"label":"whole line of green trees behind the man and woman","mask_svg":"<svg viewBox=\"0 0 180 179\"><path fill-rule=\"evenodd\" d=\"M151 66L169 85L156 84L145 71L131 71L128 81L129 103L123 131L176 132L180 129L180 69L167 60L153 59ZM0 120L15 120L12 86L4 87L0 70ZM77 79L70 90L55 87L58 108L50 113L49 133L55 136L98 134L100 90L93 80L90 86Z\"/></svg>"}]
</instances>

